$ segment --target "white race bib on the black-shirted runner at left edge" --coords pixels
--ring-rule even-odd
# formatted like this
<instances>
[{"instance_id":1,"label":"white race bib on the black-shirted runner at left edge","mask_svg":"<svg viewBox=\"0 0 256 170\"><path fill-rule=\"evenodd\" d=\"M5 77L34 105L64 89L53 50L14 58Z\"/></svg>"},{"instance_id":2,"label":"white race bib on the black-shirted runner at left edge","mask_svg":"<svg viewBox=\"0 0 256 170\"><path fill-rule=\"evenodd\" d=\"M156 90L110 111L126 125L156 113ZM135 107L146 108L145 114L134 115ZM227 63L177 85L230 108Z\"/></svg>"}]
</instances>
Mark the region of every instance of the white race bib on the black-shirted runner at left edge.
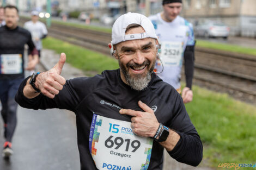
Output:
<instances>
[{"instance_id":1,"label":"white race bib on the black-shirted runner at left edge","mask_svg":"<svg viewBox=\"0 0 256 170\"><path fill-rule=\"evenodd\" d=\"M1 54L1 74L21 74L22 55L21 54Z\"/></svg>"}]
</instances>

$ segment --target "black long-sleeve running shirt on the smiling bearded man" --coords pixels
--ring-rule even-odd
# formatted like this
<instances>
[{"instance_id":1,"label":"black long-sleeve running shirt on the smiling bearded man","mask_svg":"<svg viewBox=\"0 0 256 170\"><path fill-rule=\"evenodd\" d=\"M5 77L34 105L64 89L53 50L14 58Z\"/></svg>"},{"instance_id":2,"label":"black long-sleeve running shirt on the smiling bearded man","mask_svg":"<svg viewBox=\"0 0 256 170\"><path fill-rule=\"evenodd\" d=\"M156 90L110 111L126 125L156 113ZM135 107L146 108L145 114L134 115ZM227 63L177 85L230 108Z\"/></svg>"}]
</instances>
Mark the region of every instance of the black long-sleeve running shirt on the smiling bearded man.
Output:
<instances>
[{"instance_id":1,"label":"black long-sleeve running shirt on the smiling bearded man","mask_svg":"<svg viewBox=\"0 0 256 170\"><path fill-rule=\"evenodd\" d=\"M202 142L190 121L182 98L172 86L164 83L155 74L152 75L148 87L143 91L133 90L126 85L120 78L120 70L104 71L101 75L91 78L75 78L67 80L63 90L53 99L42 94L33 99L27 99L23 95L23 87L26 85L27 79L20 85L15 97L17 103L22 107L30 109L59 108L75 112L82 170L97 169L89 149L93 113L131 122L131 117L119 114L119 109L143 111L138 106L138 100L150 108L154 108L157 120L180 135L179 142L169 152L170 156L192 166L197 166L202 160ZM153 142L148 169L161 169L163 149L161 144ZM104 165L101 168L107 169ZM111 168L110 165L109 168Z\"/></svg>"}]
</instances>

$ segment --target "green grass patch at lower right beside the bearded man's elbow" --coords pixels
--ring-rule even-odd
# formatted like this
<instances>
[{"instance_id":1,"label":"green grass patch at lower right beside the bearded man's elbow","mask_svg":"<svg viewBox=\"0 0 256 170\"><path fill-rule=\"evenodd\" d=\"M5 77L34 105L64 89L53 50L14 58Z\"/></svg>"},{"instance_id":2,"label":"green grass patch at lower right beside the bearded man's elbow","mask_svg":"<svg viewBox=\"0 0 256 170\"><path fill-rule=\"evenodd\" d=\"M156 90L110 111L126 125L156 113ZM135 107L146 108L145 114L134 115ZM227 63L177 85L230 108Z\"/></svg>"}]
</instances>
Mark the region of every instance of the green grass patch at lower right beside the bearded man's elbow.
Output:
<instances>
[{"instance_id":1,"label":"green grass patch at lower right beside the bearded man's elbow","mask_svg":"<svg viewBox=\"0 0 256 170\"><path fill-rule=\"evenodd\" d=\"M197 86L193 86L193 95L186 109L210 166L256 163L256 107Z\"/></svg>"}]
</instances>

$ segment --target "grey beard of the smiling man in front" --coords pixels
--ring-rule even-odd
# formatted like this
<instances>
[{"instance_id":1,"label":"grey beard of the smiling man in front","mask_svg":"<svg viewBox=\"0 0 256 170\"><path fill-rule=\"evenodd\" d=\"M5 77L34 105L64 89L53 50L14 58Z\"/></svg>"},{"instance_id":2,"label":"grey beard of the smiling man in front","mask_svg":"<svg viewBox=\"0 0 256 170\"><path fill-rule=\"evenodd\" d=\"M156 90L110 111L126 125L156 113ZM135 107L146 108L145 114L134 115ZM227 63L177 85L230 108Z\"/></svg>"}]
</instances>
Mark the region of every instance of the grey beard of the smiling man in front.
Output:
<instances>
[{"instance_id":1,"label":"grey beard of the smiling man in front","mask_svg":"<svg viewBox=\"0 0 256 170\"><path fill-rule=\"evenodd\" d=\"M142 74L135 74L133 75L133 77L131 77L131 74L129 74L126 71L125 67L120 63L120 60L119 60L119 66L120 66L121 72L123 72L124 74L126 83L130 85L132 89L137 91L142 91L148 87L155 64L152 65L153 68L150 68L150 70L147 72L146 75L143 76ZM129 68L129 66L127 66L127 68Z\"/></svg>"}]
</instances>

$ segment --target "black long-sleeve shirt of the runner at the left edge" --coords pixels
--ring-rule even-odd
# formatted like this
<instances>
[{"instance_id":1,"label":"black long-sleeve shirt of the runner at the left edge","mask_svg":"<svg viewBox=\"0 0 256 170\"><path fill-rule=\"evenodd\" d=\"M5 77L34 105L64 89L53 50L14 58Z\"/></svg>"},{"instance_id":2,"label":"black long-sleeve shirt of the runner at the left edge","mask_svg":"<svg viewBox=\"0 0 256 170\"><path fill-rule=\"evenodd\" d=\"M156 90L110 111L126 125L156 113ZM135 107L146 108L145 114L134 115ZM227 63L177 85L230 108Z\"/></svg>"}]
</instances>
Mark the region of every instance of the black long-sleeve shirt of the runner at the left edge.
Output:
<instances>
[{"instance_id":1,"label":"black long-sleeve shirt of the runner at the left edge","mask_svg":"<svg viewBox=\"0 0 256 170\"><path fill-rule=\"evenodd\" d=\"M32 41L31 33L28 30L17 26L15 29L9 29L7 26L0 27L0 62L3 54L20 54L22 58L21 73L3 74L0 69L0 78L23 78L24 77L24 46L28 45L29 51L33 51L35 46ZM1 64L1 63L0 63Z\"/></svg>"}]
</instances>

